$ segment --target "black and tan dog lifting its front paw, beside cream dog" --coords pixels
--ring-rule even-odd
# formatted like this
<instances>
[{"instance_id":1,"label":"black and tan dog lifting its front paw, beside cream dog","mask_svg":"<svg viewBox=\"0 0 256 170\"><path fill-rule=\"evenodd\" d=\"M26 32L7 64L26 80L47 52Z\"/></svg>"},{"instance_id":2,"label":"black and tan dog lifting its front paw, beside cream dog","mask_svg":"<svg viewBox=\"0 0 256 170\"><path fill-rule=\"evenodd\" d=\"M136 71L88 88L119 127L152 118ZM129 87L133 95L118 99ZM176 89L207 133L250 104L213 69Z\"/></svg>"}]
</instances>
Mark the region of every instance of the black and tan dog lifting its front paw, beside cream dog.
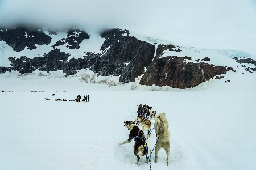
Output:
<instances>
[{"instance_id":1,"label":"black and tan dog lifting its front paw, beside cream dog","mask_svg":"<svg viewBox=\"0 0 256 170\"><path fill-rule=\"evenodd\" d=\"M138 164L139 159L141 159L139 156L145 156L146 155L146 163L148 163L147 158L147 143L146 138L144 136L144 133L142 130L139 129L138 126L135 125L135 122L133 121L125 121L125 127L130 130L129 139L126 141L123 141L122 143L119 143L119 145L123 145L125 143L130 143L133 139L135 141L134 144L134 155L137 156L137 162L135 164Z\"/></svg>"}]
</instances>

